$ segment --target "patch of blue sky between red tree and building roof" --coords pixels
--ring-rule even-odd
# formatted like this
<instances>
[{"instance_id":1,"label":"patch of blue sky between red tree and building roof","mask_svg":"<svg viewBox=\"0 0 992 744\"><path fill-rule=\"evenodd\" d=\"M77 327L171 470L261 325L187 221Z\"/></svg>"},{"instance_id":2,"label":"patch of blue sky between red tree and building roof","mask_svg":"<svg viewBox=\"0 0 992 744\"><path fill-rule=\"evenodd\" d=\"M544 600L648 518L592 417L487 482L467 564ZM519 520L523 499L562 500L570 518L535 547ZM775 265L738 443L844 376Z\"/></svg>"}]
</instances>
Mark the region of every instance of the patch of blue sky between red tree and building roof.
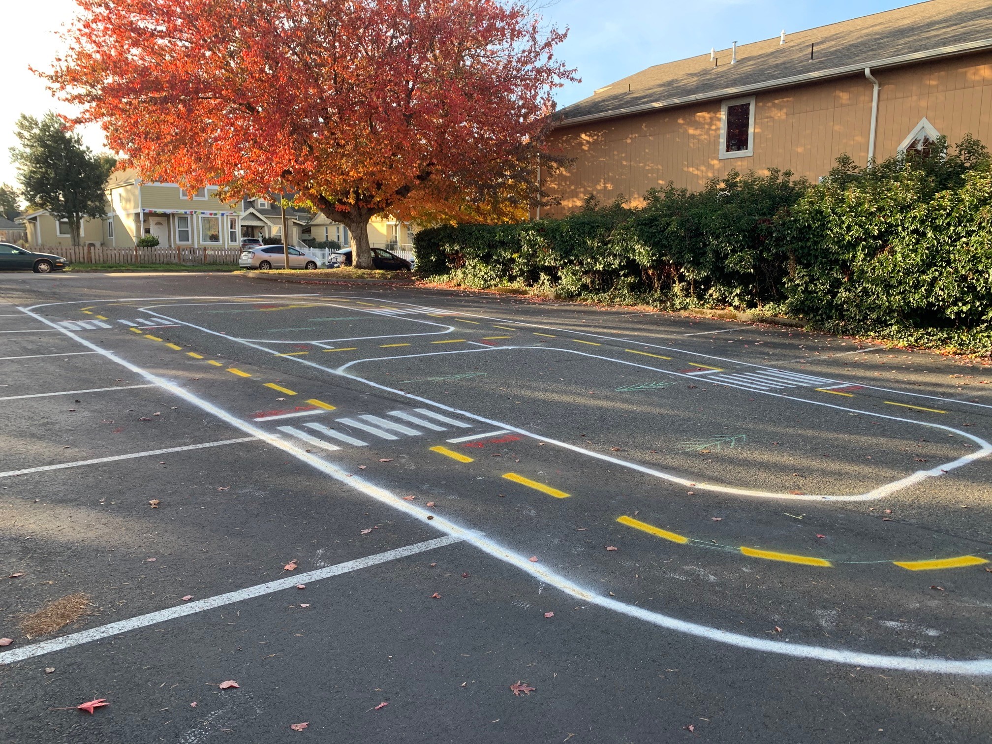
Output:
<instances>
[{"instance_id":1,"label":"patch of blue sky between red tree and building roof","mask_svg":"<svg viewBox=\"0 0 992 744\"><path fill-rule=\"evenodd\" d=\"M539 0L540 1L540 0ZM909 0L558 0L542 10L568 27L559 56L582 82L558 91L558 106L652 64L707 54L711 47L786 33L911 5Z\"/></svg>"}]
</instances>

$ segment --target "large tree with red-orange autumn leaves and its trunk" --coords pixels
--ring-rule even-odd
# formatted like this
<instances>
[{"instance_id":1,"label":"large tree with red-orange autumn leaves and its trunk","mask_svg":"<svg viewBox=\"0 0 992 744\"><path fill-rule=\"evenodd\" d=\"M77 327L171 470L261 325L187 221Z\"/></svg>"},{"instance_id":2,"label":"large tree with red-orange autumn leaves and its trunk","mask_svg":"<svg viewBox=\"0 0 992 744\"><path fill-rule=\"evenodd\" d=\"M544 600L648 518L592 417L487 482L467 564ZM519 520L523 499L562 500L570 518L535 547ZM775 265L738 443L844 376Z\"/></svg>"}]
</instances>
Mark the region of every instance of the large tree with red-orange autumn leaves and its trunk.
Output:
<instances>
[{"instance_id":1,"label":"large tree with red-orange autumn leaves and its trunk","mask_svg":"<svg viewBox=\"0 0 992 744\"><path fill-rule=\"evenodd\" d=\"M144 178L368 221L519 219L564 38L495 0L77 0L47 75Z\"/></svg>"}]
</instances>

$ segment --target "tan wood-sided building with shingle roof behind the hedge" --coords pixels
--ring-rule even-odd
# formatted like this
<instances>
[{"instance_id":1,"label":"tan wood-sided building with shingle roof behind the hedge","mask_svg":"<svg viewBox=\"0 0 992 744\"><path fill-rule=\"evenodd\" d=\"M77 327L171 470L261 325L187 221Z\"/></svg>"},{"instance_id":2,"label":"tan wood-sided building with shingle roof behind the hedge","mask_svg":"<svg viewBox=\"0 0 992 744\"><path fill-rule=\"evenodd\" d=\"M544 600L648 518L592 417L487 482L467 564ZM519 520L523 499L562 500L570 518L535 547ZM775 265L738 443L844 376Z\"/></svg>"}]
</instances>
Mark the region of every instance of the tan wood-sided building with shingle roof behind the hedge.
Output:
<instances>
[{"instance_id":1,"label":"tan wood-sided building with shingle roof behind the hedge","mask_svg":"<svg viewBox=\"0 0 992 744\"><path fill-rule=\"evenodd\" d=\"M905 8L649 67L567 106L550 144L572 165L543 186L575 209L632 205L669 183L731 169L815 182L844 153L860 165L944 135L992 147L992 2ZM536 215L542 216L542 215Z\"/></svg>"}]
</instances>

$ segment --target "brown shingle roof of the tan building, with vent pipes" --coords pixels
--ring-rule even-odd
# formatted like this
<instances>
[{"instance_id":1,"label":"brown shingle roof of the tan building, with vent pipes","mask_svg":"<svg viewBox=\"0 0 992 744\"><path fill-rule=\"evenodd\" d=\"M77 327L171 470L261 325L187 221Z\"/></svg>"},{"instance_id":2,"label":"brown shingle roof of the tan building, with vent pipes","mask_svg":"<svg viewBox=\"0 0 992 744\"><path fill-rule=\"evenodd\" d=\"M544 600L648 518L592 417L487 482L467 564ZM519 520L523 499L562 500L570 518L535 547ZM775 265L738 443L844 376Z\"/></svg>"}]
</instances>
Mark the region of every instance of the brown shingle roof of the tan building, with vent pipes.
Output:
<instances>
[{"instance_id":1,"label":"brown shingle roof of the tan building, with vent pipes","mask_svg":"<svg viewBox=\"0 0 992 744\"><path fill-rule=\"evenodd\" d=\"M813 45L812 60L809 59ZM738 45L737 62L729 49L678 62L656 64L599 88L600 92L560 109L562 125L572 120L606 118L693 100L727 97L804 79L849 74L878 63L952 54L947 48L992 48L989 0L929 0L905 8ZM938 50L944 50L937 53ZM799 79L796 79L799 78Z\"/></svg>"}]
</instances>

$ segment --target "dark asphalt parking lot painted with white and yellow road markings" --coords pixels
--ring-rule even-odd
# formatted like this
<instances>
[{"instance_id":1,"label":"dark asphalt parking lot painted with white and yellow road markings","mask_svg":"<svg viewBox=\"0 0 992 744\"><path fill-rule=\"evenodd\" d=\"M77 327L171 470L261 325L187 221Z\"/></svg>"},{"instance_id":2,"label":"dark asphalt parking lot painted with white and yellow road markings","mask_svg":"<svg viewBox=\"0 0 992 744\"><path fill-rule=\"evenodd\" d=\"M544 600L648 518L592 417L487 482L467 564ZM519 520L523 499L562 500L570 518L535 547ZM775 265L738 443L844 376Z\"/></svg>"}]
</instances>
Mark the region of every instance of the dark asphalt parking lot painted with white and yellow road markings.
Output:
<instances>
[{"instance_id":1,"label":"dark asphalt parking lot painted with white and yellow road markings","mask_svg":"<svg viewBox=\"0 0 992 744\"><path fill-rule=\"evenodd\" d=\"M2 741L989 740L987 366L92 274L0 364Z\"/></svg>"}]
</instances>

